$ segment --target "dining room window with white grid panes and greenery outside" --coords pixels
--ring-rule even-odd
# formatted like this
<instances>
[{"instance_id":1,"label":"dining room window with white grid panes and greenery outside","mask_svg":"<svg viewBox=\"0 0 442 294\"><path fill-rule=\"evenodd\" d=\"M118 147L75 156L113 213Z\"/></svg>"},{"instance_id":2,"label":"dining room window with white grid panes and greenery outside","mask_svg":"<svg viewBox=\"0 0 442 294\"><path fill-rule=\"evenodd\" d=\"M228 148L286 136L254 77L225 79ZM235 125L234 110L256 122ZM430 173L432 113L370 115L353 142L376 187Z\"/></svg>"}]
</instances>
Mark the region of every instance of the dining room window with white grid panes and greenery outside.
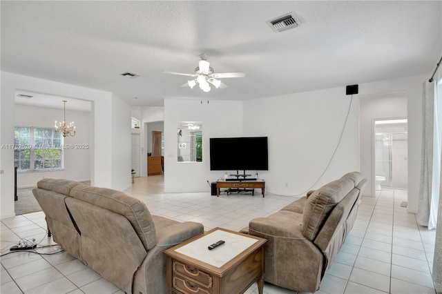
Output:
<instances>
[{"instance_id":1,"label":"dining room window with white grid panes and greenery outside","mask_svg":"<svg viewBox=\"0 0 442 294\"><path fill-rule=\"evenodd\" d=\"M17 171L63 169L63 137L52 128L15 128Z\"/></svg>"}]
</instances>

